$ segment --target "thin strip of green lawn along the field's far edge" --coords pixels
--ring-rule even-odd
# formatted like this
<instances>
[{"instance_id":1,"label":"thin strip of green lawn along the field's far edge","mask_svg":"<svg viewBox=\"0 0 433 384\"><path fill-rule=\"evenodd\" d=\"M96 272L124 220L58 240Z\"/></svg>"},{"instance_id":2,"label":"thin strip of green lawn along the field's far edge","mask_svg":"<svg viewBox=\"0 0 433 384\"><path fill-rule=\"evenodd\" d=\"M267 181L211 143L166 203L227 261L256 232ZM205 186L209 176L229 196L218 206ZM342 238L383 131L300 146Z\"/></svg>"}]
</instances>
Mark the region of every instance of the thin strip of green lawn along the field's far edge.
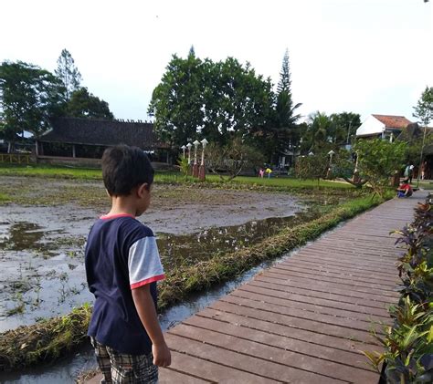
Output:
<instances>
[{"instance_id":1,"label":"thin strip of green lawn along the field's far edge","mask_svg":"<svg viewBox=\"0 0 433 384\"><path fill-rule=\"evenodd\" d=\"M100 180L101 171L98 169L71 168L48 165L9 165L0 164L0 176L36 176L52 177L64 179L80 180ZM179 172L157 171L155 173L155 182L185 182L185 177ZM198 182L192 177L188 177L186 182ZM207 174L206 182L224 184L217 175ZM236 179L228 182L231 185L246 186L264 186L281 189L300 189L300 188L336 188L336 189L353 189L354 187L347 182L332 182L317 180L300 180L287 176L273 176L268 178L238 176Z\"/></svg>"}]
</instances>

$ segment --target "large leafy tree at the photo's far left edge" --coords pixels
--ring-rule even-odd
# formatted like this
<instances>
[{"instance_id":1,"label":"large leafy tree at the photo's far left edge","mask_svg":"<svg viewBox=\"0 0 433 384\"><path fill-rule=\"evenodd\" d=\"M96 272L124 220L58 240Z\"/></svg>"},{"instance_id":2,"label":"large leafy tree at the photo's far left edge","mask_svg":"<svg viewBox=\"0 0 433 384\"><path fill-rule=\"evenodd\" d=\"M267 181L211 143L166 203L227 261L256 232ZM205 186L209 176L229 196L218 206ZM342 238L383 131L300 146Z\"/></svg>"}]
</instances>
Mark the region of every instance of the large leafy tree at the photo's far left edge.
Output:
<instances>
[{"instance_id":1,"label":"large leafy tree at the photo's far left edge","mask_svg":"<svg viewBox=\"0 0 433 384\"><path fill-rule=\"evenodd\" d=\"M49 118L61 113L64 88L45 69L22 61L0 66L0 105L7 140L15 142L24 130L36 137L49 128Z\"/></svg>"}]
</instances>

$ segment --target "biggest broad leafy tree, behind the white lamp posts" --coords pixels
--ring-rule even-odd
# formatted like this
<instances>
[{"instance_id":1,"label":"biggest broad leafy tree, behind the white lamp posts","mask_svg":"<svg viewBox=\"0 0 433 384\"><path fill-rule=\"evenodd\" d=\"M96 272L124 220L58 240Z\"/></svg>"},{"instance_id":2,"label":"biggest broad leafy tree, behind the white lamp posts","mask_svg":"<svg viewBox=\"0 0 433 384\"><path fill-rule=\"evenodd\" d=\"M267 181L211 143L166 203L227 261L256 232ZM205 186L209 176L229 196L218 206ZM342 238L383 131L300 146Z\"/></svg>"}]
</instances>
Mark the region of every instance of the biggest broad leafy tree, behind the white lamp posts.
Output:
<instances>
[{"instance_id":1,"label":"biggest broad leafy tree, behind the white lamp posts","mask_svg":"<svg viewBox=\"0 0 433 384\"><path fill-rule=\"evenodd\" d=\"M160 140L177 150L197 135L221 145L233 137L254 143L272 103L269 79L257 76L248 64L232 57L214 63L190 51L185 59L172 57L148 112Z\"/></svg>"}]
</instances>

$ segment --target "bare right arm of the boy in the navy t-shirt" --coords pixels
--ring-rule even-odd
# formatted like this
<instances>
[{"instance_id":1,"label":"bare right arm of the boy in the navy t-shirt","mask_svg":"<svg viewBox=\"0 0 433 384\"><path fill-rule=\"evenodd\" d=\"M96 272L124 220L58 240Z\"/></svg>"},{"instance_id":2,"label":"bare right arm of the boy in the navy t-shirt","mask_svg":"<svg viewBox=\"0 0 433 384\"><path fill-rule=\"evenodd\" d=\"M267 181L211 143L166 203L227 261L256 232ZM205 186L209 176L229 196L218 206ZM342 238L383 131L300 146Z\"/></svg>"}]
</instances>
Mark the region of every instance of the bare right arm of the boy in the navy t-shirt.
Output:
<instances>
[{"instance_id":1,"label":"bare right arm of the boy in the navy t-shirt","mask_svg":"<svg viewBox=\"0 0 433 384\"><path fill-rule=\"evenodd\" d=\"M150 285L132 289L132 300L143 327L152 340L153 364L158 367L169 366L172 362L170 349L165 344L163 331L159 325Z\"/></svg>"}]
</instances>

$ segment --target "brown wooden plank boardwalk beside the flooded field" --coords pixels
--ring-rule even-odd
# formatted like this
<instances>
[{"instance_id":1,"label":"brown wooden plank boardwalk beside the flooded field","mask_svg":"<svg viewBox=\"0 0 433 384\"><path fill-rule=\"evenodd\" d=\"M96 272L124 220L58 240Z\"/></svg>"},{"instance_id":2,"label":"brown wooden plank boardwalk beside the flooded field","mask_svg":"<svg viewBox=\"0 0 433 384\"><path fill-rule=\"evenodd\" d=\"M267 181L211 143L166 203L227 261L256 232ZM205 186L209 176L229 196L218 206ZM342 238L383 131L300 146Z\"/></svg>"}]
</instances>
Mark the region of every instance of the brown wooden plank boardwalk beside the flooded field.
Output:
<instances>
[{"instance_id":1,"label":"brown wooden plank boardwalk beside the flooded field","mask_svg":"<svg viewBox=\"0 0 433 384\"><path fill-rule=\"evenodd\" d=\"M425 199L394 199L302 247L169 329L161 383L377 383L361 350L395 303L395 239ZM380 332L380 327L376 327Z\"/></svg>"}]
</instances>

